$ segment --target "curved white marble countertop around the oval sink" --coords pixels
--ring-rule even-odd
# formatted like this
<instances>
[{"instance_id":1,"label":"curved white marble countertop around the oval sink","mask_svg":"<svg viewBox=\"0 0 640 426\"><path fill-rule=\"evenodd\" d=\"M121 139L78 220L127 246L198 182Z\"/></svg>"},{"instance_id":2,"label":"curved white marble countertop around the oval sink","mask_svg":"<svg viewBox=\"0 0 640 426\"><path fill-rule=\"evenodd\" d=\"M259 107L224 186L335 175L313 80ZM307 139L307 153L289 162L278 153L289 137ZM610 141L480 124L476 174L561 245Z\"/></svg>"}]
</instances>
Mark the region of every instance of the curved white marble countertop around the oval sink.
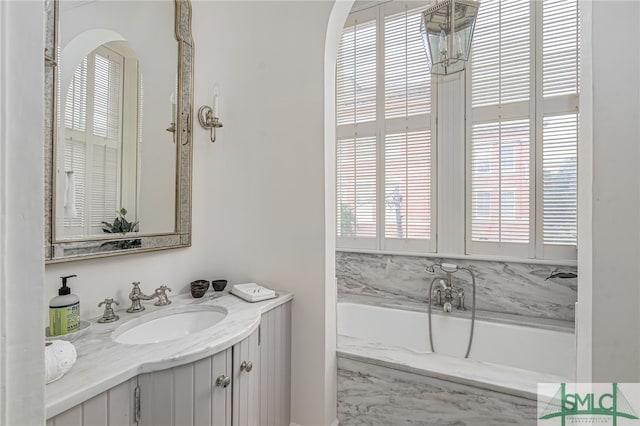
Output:
<instances>
[{"instance_id":1,"label":"curved white marble countertop around the oval sink","mask_svg":"<svg viewBox=\"0 0 640 426\"><path fill-rule=\"evenodd\" d=\"M146 302L146 310L136 314L119 309L116 313L120 319L110 324L92 319L86 330L64 339L74 344L78 358L67 374L46 386L46 417L60 414L138 374L194 362L233 346L258 328L264 312L293 299L291 293L278 294L275 299L257 303L245 302L228 292L209 291L200 299L179 294L171 297L169 306ZM111 333L130 320L187 305L220 306L228 315L210 329L166 342L124 345L111 340Z\"/></svg>"}]
</instances>

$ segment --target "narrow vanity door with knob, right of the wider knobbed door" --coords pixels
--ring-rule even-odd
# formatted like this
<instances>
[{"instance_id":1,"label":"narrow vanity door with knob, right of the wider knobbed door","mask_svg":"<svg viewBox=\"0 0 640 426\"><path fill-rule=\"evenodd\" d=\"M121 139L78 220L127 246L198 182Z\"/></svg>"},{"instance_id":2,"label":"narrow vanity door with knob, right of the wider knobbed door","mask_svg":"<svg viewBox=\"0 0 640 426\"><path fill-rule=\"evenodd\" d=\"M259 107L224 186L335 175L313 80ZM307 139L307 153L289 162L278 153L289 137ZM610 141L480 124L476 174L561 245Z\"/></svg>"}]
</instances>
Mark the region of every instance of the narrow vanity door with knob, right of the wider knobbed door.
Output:
<instances>
[{"instance_id":1,"label":"narrow vanity door with knob, right of the wider knobbed door","mask_svg":"<svg viewBox=\"0 0 640 426\"><path fill-rule=\"evenodd\" d=\"M260 425L260 329L233 346L233 426Z\"/></svg>"}]
</instances>

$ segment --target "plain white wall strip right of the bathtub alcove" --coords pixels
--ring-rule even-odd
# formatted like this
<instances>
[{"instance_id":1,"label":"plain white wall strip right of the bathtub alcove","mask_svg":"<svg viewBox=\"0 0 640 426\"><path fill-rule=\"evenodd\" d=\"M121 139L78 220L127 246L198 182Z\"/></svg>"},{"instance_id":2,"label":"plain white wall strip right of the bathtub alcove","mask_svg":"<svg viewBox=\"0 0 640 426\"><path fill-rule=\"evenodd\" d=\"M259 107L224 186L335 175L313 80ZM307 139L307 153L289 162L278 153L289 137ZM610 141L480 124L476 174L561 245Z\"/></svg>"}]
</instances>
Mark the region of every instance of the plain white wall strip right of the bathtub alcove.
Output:
<instances>
[{"instance_id":1,"label":"plain white wall strip right of the bathtub alcove","mask_svg":"<svg viewBox=\"0 0 640 426\"><path fill-rule=\"evenodd\" d=\"M639 16L640 3L635 1L593 2L591 231L596 382L640 381Z\"/></svg>"}]
</instances>

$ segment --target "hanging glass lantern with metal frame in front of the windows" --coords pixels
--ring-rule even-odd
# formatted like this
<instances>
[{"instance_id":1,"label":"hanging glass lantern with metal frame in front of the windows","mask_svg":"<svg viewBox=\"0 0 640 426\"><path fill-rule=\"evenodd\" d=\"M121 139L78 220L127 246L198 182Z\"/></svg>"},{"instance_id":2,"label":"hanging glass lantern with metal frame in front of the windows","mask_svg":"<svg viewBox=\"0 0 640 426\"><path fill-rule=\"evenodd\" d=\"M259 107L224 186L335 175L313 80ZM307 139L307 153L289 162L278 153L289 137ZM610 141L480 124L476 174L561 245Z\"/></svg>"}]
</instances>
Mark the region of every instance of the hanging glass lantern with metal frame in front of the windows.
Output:
<instances>
[{"instance_id":1,"label":"hanging glass lantern with metal frame in front of the windows","mask_svg":"<svg viewBox=\"0 0 640 426\"><path fill-rule=\"evenodd\" d=\"M444 0L422 13L422 38L431 74L464 70L479 7L480 3L472 0Z\"/></svg>"}]
</instances>

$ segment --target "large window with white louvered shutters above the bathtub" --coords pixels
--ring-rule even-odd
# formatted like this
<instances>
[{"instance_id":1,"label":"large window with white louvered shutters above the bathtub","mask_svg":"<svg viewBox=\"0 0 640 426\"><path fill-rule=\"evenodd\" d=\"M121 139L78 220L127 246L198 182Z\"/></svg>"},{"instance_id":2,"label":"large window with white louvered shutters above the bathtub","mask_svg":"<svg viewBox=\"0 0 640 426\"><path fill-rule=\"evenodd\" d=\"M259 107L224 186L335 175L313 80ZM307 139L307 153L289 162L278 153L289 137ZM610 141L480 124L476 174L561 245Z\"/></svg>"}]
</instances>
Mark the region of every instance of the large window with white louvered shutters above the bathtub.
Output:
<instances>
[{"instance_id":1,"label":"large window with white louvered shutters above the bathtub","mask_svg":"<svg viewBox=\"0 0 640 426\"><path fill-rule=\"evenodd\" d=\"M338 248L575 259L578 0L483 0L467 70L433 80L426 6L365 5L345 25Z\"/></svg>"}]
</instances>

